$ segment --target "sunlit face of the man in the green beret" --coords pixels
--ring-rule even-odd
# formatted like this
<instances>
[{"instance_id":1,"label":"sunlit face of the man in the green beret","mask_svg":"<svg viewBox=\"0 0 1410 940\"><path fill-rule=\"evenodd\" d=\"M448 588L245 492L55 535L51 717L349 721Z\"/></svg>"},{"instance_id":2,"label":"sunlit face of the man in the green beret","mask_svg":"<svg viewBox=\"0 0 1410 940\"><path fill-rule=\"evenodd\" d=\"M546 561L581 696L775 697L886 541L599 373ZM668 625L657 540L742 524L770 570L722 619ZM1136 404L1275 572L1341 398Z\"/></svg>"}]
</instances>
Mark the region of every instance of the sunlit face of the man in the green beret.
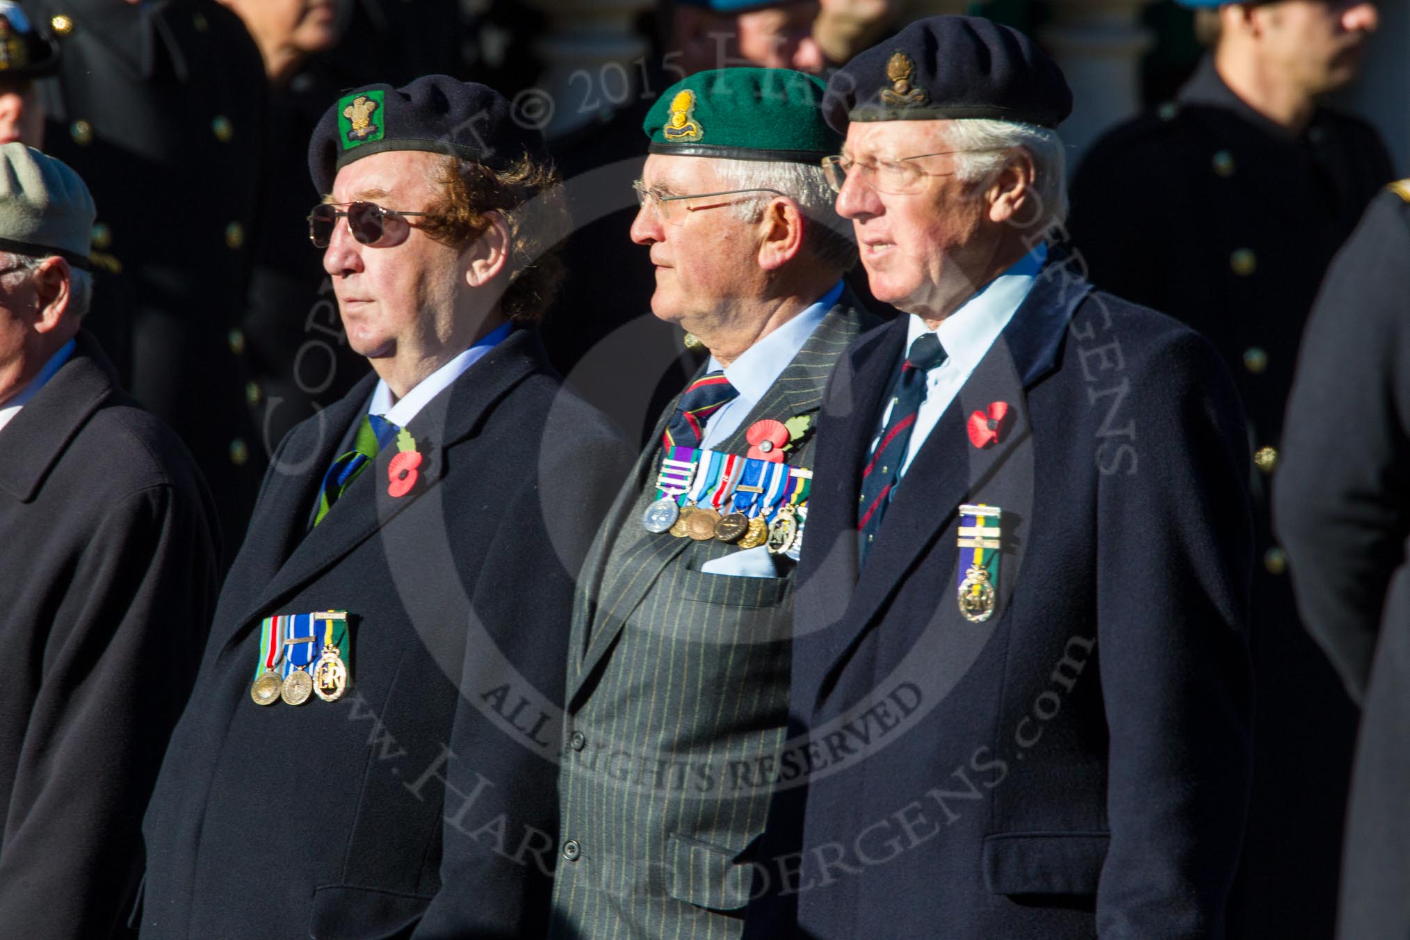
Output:
<instances>
[{"instance_id":1,"label":"sunlit face of the man in the green beret","mask_svg":"<svg viewBox=\"0 0 1410 940\"><path fill-rule=\"evenodd\" d=\"M667 196L735 189L715 172L708 156L651 154L642 185ZM632 241L651 251L656 293L651 313L691 333L709 333L732 320L740 299L763 292L757 225L730 211L730 203L753 196L677 202L671 221L650 203L632 221Z\"/></svg>"}]
</instances>

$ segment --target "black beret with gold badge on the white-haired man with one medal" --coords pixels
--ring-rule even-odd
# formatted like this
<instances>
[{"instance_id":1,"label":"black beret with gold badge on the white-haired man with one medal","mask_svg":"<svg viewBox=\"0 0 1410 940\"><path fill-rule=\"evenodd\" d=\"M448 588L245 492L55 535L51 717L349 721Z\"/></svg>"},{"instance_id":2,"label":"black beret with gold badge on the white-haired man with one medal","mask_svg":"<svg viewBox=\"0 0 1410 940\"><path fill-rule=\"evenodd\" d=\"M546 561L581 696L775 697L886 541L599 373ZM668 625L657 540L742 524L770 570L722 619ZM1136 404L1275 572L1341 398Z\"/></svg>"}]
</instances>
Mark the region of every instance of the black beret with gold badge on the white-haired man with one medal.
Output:
<instances>
[{"instance_id":1,"label":"black beret with gold badge on the white-haired man with one medal","mask_svg":"<svg viewBox=\"0 0 1410 940\"><path fill-rule=\"evenodd\" d=\"M983 17L918 20L828 82L823 117L849 121L994 118L1058 127L1072 92L1058 63L1018 30Z\"/></svg>"}]
</instances>

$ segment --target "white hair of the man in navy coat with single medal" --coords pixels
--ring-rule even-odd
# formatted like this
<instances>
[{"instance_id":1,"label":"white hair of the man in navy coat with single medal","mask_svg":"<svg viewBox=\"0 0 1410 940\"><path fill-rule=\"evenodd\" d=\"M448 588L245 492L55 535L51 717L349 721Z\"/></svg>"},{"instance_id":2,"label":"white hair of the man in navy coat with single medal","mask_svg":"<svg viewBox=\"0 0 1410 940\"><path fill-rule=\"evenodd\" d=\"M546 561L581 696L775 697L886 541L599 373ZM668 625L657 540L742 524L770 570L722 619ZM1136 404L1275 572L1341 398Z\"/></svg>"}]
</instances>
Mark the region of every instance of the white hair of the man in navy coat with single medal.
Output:
<instances>
[{"instance_id":1,"label":"white hair of the man in navy coat with single medal","mask_svg":"<svg viewBox=\"0 0 1410 940\"><path fill-rule=\"evenodd\" d=\"M1008 165L1008 151L1021 148L1034 158L1034 196L1038 210L1015 224L1042 238L1067 221L1067 155L1058 131L1035 124L988 118L960 118L946 124L945 145L955 155L955 176L976 189Z\"/></svg>"}]
</instances>

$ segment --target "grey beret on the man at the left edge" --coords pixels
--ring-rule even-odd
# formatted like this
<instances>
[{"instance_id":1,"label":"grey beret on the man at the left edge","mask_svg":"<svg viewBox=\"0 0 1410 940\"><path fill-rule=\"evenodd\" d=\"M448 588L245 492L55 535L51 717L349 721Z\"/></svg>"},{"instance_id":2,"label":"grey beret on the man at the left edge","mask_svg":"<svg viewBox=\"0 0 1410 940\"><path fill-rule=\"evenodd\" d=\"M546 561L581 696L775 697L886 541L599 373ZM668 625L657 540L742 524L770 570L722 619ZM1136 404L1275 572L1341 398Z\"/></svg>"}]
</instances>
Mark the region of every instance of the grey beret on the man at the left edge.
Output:
<instances>
[{"instance_id":1,"label":"grey beret on the man at the left edge","mask_svg":"<svg viewBox=\"0 0 1410 940\"><path fill-rule=\"evenodd\" d=\"M87 271L96 216L87 185L66 163L0 145L0 251L59 255Z\"/></svg>"}]
</instances>

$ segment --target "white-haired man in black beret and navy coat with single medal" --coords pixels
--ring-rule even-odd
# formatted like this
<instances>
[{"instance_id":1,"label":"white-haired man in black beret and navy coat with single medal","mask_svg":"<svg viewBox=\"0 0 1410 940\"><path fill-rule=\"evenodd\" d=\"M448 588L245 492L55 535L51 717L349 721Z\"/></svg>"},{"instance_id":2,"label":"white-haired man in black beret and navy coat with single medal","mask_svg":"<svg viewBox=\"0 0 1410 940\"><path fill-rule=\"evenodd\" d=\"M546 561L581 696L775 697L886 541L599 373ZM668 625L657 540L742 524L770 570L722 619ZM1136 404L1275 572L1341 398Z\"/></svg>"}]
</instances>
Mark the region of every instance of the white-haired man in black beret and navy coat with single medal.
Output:
<instances>
[{"instance_id":1,"label":"white-haired man in black beret and navy coat with single medal","mask_svg":"<svg viewBox=\"0 0 1410 940\"><path fill-rule=\"evenodd\" d=\"M823 107L907 316L822 409L774 889L815 937L1220 937L1249 779L1231 379L1048 240L1070 94L1028 38L919 21Z\"/></svg>"}]
</instances>

